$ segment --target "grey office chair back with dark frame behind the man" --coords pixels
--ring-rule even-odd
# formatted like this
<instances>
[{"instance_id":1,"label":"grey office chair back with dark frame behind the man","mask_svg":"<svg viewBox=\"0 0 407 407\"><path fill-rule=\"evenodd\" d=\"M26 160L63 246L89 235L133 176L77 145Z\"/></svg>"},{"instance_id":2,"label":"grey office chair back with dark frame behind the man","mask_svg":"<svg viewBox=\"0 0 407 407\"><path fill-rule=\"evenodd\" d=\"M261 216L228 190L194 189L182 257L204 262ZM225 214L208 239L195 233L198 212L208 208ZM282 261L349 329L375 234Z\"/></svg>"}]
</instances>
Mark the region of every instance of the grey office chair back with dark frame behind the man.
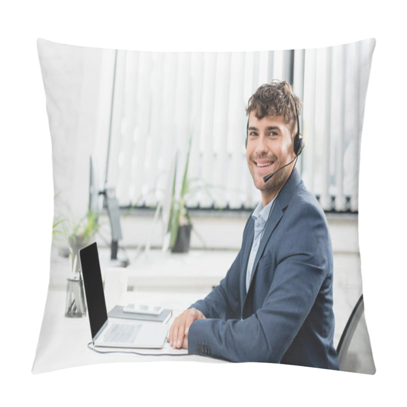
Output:
<instances>
[{"instance_id":1,"label":"grey office chair back with dark frame behind the man","mask_svg":"<svg viewBox=\"0 0 407 407\"><path fill-rule=\"evenodd\" d=\"M364 310L362 294L346 323L336 348L339 370L366 374L376 372Z\"/></svg>"}]
</instances>

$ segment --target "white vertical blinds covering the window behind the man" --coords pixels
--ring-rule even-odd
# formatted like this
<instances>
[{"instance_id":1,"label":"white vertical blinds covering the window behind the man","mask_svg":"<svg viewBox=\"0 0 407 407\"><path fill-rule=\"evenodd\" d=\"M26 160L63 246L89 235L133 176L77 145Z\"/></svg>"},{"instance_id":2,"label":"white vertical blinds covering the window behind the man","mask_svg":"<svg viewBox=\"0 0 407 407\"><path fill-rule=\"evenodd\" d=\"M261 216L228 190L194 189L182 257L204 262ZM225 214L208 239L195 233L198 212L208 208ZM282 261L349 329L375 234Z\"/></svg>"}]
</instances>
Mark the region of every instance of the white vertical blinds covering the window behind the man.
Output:
<instances>
[{"instance_id":1,"label":"white vertical blinds covering the window behind the man","mask_svg":"<svg viewBox=\"0 0 407 407\"><path fill-rule=\"evenodd\" d=\"M366 95L364 42L259 52L115 52L106 182L121 206L155 207L182 178L189 139L188 206L253 208L245 107L273 78L303 100L305 149L297 163L326 211L358 210ZM366 61L366 64L363 64ZM368 73L368 72L367 72ZM177 161L176 161L177 158Z\"/></svg>"}]
</instances>

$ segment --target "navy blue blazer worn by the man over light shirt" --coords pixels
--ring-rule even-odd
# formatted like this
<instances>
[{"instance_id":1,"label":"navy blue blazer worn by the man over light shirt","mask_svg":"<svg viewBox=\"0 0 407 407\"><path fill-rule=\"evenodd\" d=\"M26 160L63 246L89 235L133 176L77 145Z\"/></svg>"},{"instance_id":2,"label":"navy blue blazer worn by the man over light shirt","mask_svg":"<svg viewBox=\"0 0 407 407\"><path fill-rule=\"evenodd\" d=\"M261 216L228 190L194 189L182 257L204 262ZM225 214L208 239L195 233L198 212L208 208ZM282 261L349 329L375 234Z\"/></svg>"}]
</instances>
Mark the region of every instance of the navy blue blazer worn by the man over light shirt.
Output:
<instances>
[{"instance_id":1,"label":"navy blue blazer worn by the man over light shirt","mask_svg":"<svg viewBox=\"0 0 407 407\"><path fill-rule=\"evenodd\" d=\"M276 198L254 261L250 216L225 278L191 307L188 353L235 362L338 369L333 346L333 256L324 212L295 169Z\"/></svg>"}]
</instances>

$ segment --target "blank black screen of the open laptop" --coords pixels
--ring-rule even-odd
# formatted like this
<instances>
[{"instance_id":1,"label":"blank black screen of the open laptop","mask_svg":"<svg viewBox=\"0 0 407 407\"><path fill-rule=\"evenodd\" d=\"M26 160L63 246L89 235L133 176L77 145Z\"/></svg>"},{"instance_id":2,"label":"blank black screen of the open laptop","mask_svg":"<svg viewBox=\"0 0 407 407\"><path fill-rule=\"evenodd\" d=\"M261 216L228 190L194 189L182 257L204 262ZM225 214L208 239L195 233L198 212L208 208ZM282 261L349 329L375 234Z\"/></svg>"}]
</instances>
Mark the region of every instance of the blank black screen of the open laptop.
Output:
<instances>
[{"instance_id":1,"label":"blank black screen of the open laptop","mask_svg":"<svg viewBox=\"0 0 407 407\"><path fill-rule=\"evenodd\" d=\"M81 249L79 251L79 257L85 285L86 304L88 304L92 338L94 338L107 321L106 302L96 242Z\"/></svg>"}]
</instances>

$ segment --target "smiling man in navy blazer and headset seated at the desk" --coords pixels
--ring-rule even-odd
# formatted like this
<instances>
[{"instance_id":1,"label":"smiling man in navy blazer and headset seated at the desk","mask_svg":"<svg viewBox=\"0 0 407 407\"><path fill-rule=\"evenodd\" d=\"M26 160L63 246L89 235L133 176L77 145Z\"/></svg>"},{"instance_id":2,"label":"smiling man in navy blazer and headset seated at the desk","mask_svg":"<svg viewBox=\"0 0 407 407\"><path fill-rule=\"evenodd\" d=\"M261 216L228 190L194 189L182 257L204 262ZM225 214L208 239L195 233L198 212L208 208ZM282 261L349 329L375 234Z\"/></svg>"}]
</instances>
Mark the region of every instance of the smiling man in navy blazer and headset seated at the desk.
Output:
<instances>
[{"instance_id":1,"label":"smiling man in navy blazer and headset seated at the desk","mask_svg":"<svg viewBox=\"0 0 407 407\"><path fill-rule=\"evenodd\" d=\"M236 362L338 369L328 225L295 169L300 109L285 81L261 85L249 99L246 156L261 202L226 277L173 322L172 347Z\"/></svg>"}]
</instances>

